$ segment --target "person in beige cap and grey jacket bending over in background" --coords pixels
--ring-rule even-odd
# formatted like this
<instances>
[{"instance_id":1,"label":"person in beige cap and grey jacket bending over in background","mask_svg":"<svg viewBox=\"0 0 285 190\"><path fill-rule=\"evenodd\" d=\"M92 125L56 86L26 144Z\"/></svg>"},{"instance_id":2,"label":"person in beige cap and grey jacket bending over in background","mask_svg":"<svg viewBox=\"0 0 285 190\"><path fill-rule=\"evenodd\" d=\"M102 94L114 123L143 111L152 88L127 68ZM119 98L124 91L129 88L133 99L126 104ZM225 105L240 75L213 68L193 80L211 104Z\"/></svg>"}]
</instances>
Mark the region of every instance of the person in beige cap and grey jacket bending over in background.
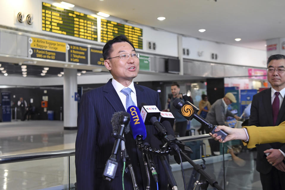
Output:
<instances>
[{"instance_id":1,"label":"person in beige cap and grey jacket bending over in background","mask_svg":"<svg viewBox=\"0 0 285 190\"><path fill-rule=\"evenodd\" d=\"M207 114L206 120L213 125L226 125L225 121L227 116L234 117L238 120L239 117L228 110L228 106L236 102L237 100L235 99L235 96L232 93L228 92L224 98L218 99L213 103L210 111ZM206 133L210 132L210 129L208 128L205 130ZM213 139L208 140L211 148L211 154L213 156L218 155L220 153L219 142Z\"/></svg>"}]
</instances>

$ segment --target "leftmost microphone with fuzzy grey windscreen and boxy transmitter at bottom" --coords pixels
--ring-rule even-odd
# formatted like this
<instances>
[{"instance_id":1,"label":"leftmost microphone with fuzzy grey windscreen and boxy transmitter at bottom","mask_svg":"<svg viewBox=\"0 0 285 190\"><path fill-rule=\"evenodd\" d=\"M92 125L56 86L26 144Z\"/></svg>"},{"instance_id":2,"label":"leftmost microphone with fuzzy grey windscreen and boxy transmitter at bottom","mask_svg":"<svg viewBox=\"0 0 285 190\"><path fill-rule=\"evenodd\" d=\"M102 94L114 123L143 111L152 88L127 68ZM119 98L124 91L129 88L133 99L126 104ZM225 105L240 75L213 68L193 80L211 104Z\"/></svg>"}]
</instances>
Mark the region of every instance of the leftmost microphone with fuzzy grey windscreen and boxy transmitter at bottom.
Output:
<instances>
[{"instance_id":1,"label":"leftmost microphone with fuzzy grey windscreen and boxy transmitter at bottom","mask_svg":"<svg viewBox=\"0 0 285 190\"><path fill-rule=\"evenodd\" d=\"M115 174L118 168L118 162L116 161L116 156L118 154L118 148L119 148L121 139L124 138L122 137L124 133L124 128L130 121L130 114L126 112L120 112L119 114L115 114L115 116L113 115L111 121L113 120L114 122L114 120L116 120L117 117L119 118L118 123L120 124L120 126L118 127L118 132L116 132L117 124L114 125L115 127L113 128L113 132L115 131L116 134L115 135L113 134L112 136L113 137L115 136L116 140L113 146L112 154L106 162L104 173L103 173L103 179L108 180L108 181L112 181L115 178Z\"/></svg>"}]
</instances>

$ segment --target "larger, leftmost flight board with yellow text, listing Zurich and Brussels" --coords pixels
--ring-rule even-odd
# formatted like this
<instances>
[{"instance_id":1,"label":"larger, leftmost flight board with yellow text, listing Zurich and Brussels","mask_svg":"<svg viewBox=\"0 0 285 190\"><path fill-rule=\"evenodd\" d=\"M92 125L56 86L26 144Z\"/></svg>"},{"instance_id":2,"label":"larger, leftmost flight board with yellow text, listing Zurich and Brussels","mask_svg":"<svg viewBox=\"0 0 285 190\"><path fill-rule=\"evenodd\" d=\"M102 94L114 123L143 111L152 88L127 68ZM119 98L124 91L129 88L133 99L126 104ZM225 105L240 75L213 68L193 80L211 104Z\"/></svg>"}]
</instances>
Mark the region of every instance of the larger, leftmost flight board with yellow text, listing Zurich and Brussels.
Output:
<instances>
[{"instance_id":1,"label":"larger, leftmost flight board with yellow text, listing Zurich and Brussels","mask_svg":"<svg viewBox=\"0 0 285 190\"><path fill-rule=\"evenodd\" d=\"M97 18L42 2L42 30L97 41Z\"/></svg>"}]
</instances>

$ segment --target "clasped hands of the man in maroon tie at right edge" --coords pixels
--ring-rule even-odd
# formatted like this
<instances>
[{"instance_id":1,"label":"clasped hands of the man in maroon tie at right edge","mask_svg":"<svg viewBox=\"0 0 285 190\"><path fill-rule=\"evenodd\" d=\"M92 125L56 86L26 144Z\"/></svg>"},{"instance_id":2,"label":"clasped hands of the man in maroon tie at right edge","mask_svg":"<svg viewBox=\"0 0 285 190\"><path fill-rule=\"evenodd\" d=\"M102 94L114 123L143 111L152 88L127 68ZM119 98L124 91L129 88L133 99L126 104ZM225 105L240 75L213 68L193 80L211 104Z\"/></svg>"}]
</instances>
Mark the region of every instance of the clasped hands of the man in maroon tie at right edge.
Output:
<instances>
[{"instance_id":1,"label":"clasped hands of the man in maroon tie at right edge","mask_svg":"<svg viewBox=\"0 0 285 190\"><path fill-rule=\"evenodd\" d=\"M278 149L267 149L264 153L269 153L266 157L269 164L276 167L278 170L285 172L285 165L282 162L284 159L283 154Z\"/></svg>"}]
</instances>

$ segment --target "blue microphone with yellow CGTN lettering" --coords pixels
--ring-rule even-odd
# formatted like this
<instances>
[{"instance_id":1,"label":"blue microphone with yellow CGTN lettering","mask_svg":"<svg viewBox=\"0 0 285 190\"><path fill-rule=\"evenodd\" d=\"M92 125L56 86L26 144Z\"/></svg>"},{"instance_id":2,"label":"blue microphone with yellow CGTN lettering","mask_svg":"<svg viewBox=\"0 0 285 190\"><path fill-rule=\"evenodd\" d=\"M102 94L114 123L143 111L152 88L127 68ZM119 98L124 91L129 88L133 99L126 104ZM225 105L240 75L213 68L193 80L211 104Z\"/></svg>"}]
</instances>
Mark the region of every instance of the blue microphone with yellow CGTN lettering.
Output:
<instances>
[{"instance_id":1,"label":"blue microphone with yellow CGTN lettering","mask_svg":"<svg viewBox=\"0 0 285 190\"><path fill-rule=\"evenodd\" d=\"M137 138L137 135L142 135L143 140L145 140L146 129L142 116L140 115L139 108L137 106L130 106L128 107L127 112L131 115L129 124L131 126L134 139Z\"/></svg>"}]
</instances>

